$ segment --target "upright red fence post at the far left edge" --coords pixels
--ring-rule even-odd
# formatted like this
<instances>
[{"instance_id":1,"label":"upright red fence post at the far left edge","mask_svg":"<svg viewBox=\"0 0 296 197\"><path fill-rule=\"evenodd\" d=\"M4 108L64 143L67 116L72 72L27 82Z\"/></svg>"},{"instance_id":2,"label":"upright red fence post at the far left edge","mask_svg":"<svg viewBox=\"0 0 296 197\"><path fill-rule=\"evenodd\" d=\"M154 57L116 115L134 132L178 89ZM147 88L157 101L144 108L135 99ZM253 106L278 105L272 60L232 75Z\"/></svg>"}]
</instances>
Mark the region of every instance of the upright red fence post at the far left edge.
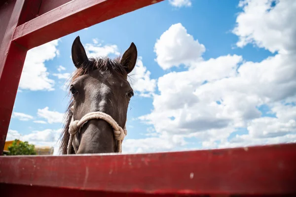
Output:
<instances>
[{"instance_id":1,"label":"upright red fence post at the far left edge","mask_svg":"<svg viewBox=\"0 0 296 197\"><path fill-rule=\"evenodd\" d=\"M8 24L1 27L3 40L0 48L0 155L2 155L10 117L27 49L12 41L25 0L10 2L13 6ZM3 6L3 5L2 5ZM2 10L1 10L2 11ZM2 21L1 21L2 23Z\"/></svg>"}]
</instances>

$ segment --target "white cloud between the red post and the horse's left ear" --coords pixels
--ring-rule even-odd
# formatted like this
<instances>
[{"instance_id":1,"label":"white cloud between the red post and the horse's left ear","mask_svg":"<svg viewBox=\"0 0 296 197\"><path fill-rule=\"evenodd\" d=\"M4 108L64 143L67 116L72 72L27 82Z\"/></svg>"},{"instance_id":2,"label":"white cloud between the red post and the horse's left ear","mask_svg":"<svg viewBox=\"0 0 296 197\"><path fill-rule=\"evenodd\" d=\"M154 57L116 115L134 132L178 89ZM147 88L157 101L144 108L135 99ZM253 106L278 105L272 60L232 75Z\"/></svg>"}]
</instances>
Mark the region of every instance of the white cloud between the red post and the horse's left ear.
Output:
<instances>
[{"instance_id":1,"label":"white cloud between the red post and the horse's left ear","mask_svg":"<svg viewBox=\"0 0 296 197\"><path fill-rule=\"evenodd\" d=\"M58 39L28 51L20 79L19 88L31 91L54 90L55 81L48 78L45 62L59 54Z\"/></svg>"}]
</instances>

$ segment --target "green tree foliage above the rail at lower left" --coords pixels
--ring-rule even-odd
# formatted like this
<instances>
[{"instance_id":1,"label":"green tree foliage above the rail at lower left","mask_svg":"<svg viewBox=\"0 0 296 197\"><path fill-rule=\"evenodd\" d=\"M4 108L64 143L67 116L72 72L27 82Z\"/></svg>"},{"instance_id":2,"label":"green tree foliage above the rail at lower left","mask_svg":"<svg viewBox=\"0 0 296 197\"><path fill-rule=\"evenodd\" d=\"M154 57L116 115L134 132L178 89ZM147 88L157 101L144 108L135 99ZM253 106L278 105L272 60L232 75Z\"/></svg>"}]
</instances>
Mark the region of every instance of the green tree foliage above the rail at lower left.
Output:
<instances>
[{"instance_id":1,"label":"green tree foliage above the rail at lower left","mask_svg":"<svg viewBox=\"0 0 296 197\"><path fill-rule=\"evenodd\" d=\"M15 139L12 145L8 147L7 155L36 155L35 145L29 144L27 141L22 142Z\"/></svg>"}]
</instances>

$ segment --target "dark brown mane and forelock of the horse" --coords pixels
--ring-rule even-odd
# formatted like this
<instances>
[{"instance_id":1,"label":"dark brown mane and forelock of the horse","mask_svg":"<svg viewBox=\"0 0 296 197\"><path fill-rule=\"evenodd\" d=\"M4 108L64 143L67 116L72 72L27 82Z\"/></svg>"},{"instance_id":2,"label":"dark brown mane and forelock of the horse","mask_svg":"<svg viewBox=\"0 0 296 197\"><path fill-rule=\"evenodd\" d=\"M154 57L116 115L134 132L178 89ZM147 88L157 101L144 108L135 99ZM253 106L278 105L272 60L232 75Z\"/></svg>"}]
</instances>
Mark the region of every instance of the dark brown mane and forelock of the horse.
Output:
<instances>
[{"instance_id":1,"label":"dark brown mane and forelock of the horse","mask_svg":"<svg viewBox=\"0 0 296 197\"><path fill-rule=\"evenodd\" d=\"M102 71L111 71L111 73L118 74L123 78L127 77L127 72L125 68L120 64L120 57L117 57L114 59L110 59L109 57L89 58L89 61L87 63L82 64L82 66L80 66L74 71L69 84L71 84L77 77L87 74L89 71L94 69L99 69ZM72 112L70 108L72 105L73 105L73 97L71 97L69 101L69 104L64 116L64 120L66 121L60 136L60 139L61 139L60 152L62 154L67 154L67 146L68 146L68 141L70 139L70 133L68 132L68 130L69 130L69 125L72 119ZM71 153L74 153L73 147L72 147Z\"/></svg>"}]
</instances>

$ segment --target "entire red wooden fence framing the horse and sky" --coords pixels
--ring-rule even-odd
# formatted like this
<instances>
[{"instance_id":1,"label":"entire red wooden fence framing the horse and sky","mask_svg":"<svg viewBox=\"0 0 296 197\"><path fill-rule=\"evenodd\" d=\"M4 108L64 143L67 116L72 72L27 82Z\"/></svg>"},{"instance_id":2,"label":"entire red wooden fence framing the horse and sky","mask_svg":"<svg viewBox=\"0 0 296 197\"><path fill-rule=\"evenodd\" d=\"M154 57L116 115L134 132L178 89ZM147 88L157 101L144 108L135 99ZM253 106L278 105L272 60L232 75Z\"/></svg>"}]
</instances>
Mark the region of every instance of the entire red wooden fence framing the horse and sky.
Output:
<instances>
[{"instance_id":1,"label":"entire red wooden fence framing the horse and sky","mask_svg":"<svg viewBox=\"0 0 296 197\"><path fill-rule=\"evenodd\" d=\"M29 49L159 1L0 1L0 154ZM92 195L296 196L296 144L137 155L0 157L1 197Z\"/></svg>"}]
</instances>

